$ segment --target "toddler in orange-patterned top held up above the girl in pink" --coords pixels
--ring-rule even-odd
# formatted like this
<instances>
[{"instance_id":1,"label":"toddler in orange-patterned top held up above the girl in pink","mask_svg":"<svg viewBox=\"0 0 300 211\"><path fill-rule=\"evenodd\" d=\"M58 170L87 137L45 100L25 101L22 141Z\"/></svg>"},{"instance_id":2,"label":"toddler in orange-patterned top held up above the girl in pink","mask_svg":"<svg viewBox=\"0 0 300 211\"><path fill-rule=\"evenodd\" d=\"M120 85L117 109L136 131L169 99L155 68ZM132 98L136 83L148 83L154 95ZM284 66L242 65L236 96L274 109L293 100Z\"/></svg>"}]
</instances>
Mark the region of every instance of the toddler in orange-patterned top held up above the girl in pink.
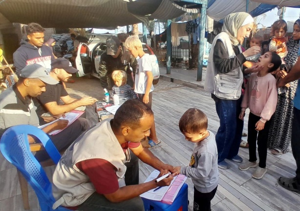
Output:
<instances>
[{"instance_id":1,"label":"toddler in orange-patterned top held up above the girl in pink","mask_svg":"<svg viewBox=\"0 0 300 211\"><path fill-rule=\"evenodd\" d=\"M287 23L280 19L273 23L274 37L271 39L269 50L276 52L281 59L287 55L285 34L287 32Z\"/></svg>"}]
</instances>

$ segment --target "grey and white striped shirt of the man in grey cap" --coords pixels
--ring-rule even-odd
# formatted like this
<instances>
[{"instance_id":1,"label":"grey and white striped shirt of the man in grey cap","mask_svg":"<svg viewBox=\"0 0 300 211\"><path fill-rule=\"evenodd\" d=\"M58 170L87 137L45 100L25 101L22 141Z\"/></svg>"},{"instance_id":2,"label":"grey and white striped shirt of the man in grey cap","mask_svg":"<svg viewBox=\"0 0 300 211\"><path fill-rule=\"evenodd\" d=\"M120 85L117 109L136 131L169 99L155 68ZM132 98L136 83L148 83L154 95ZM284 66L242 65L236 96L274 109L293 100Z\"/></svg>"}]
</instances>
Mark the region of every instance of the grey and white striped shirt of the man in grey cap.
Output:
<instances>
[{"instance_id":1,"label":"grey and white striped shirt of the man in grey cap","mask_svg":"<svg viewBox=\"0 0 300 211\"><path fill-rule=\"evenodd\" d=\"M36 107L30 97L23 98L16 84L0 94L0 136L15 125L39 126Z\"/></svg>"}]
</instances>

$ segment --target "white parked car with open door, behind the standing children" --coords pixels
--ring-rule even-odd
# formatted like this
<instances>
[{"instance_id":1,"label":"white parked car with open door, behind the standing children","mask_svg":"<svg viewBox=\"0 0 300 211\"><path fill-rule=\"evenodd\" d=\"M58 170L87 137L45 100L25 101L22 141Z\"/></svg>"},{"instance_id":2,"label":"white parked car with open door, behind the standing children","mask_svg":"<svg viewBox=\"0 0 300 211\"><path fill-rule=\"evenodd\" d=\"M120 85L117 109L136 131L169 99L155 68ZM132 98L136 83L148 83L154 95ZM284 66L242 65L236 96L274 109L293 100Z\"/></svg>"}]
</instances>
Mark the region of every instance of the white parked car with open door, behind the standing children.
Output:
<instances>
[{"instance_id":1,"label":"white parked car with open door, behind the standing children","mask_svg":"<svg viewBox=\"0 0 300 211\"><path fill-rule=\"evenodd\" d=\"M99 42L97 44L93 43L88 46L85 43L80 43L80 45L78 46L78 52L81 52L81 54L77 54L75 60L76 67L79 70L76 74L77 77L88 76L100 78L98 76L99 62L101 54L106 50L106 48L106 42ZM147 44L143 43L143 49L152 58L151 63L153 84L157 84L160 76L157 58L154 55L152 49Z\"/></svg>"}]
</instances>

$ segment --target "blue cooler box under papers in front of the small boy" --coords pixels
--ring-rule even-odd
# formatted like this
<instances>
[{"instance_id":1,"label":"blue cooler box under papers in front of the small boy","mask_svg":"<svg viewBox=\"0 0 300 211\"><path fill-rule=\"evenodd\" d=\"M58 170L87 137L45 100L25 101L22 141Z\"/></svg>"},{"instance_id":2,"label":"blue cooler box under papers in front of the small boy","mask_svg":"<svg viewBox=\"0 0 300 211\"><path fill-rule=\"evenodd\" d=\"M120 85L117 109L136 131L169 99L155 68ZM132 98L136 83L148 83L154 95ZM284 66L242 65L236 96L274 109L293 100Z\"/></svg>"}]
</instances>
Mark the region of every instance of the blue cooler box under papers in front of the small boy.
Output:
<instances>
[{"instance_id":1,"label":"blue cooler box under papers in front of the small boy","mask_svg":"<svg viewBox=\"0 0 300 211\"><path fill-rule=\"evenodd\" d=\"M172 204L153 201L142 197L145 211L188 211L188 185L183 184Z\"/></svg>"}]
</instances>

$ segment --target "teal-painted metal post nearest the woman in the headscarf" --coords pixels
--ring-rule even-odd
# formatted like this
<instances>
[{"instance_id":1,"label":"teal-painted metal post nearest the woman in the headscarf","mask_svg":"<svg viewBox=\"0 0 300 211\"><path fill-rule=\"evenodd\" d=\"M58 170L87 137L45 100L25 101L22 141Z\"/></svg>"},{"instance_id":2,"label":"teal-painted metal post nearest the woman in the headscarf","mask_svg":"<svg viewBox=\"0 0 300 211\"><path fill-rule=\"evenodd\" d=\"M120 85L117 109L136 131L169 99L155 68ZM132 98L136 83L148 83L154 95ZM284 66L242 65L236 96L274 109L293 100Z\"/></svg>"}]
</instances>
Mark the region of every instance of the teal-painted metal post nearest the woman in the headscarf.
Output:
<instances>
[{"instance_id":1,"label":"teal-painted metal post nearest the woman in the headscarf","mask_svg":"<svg viewBox=\"0 0 300 211\"><path fill-rule=\"evenodd\" d=\"M203 54L204 54L204 37L205 37L205 25L206 25L206 9L207 5L201 5L201 17L200 17L200 32L199 32L199 56L198 56L198 70L197 81L202 81L202 69L203 69Z\"/></svg>"}]
</instances>

